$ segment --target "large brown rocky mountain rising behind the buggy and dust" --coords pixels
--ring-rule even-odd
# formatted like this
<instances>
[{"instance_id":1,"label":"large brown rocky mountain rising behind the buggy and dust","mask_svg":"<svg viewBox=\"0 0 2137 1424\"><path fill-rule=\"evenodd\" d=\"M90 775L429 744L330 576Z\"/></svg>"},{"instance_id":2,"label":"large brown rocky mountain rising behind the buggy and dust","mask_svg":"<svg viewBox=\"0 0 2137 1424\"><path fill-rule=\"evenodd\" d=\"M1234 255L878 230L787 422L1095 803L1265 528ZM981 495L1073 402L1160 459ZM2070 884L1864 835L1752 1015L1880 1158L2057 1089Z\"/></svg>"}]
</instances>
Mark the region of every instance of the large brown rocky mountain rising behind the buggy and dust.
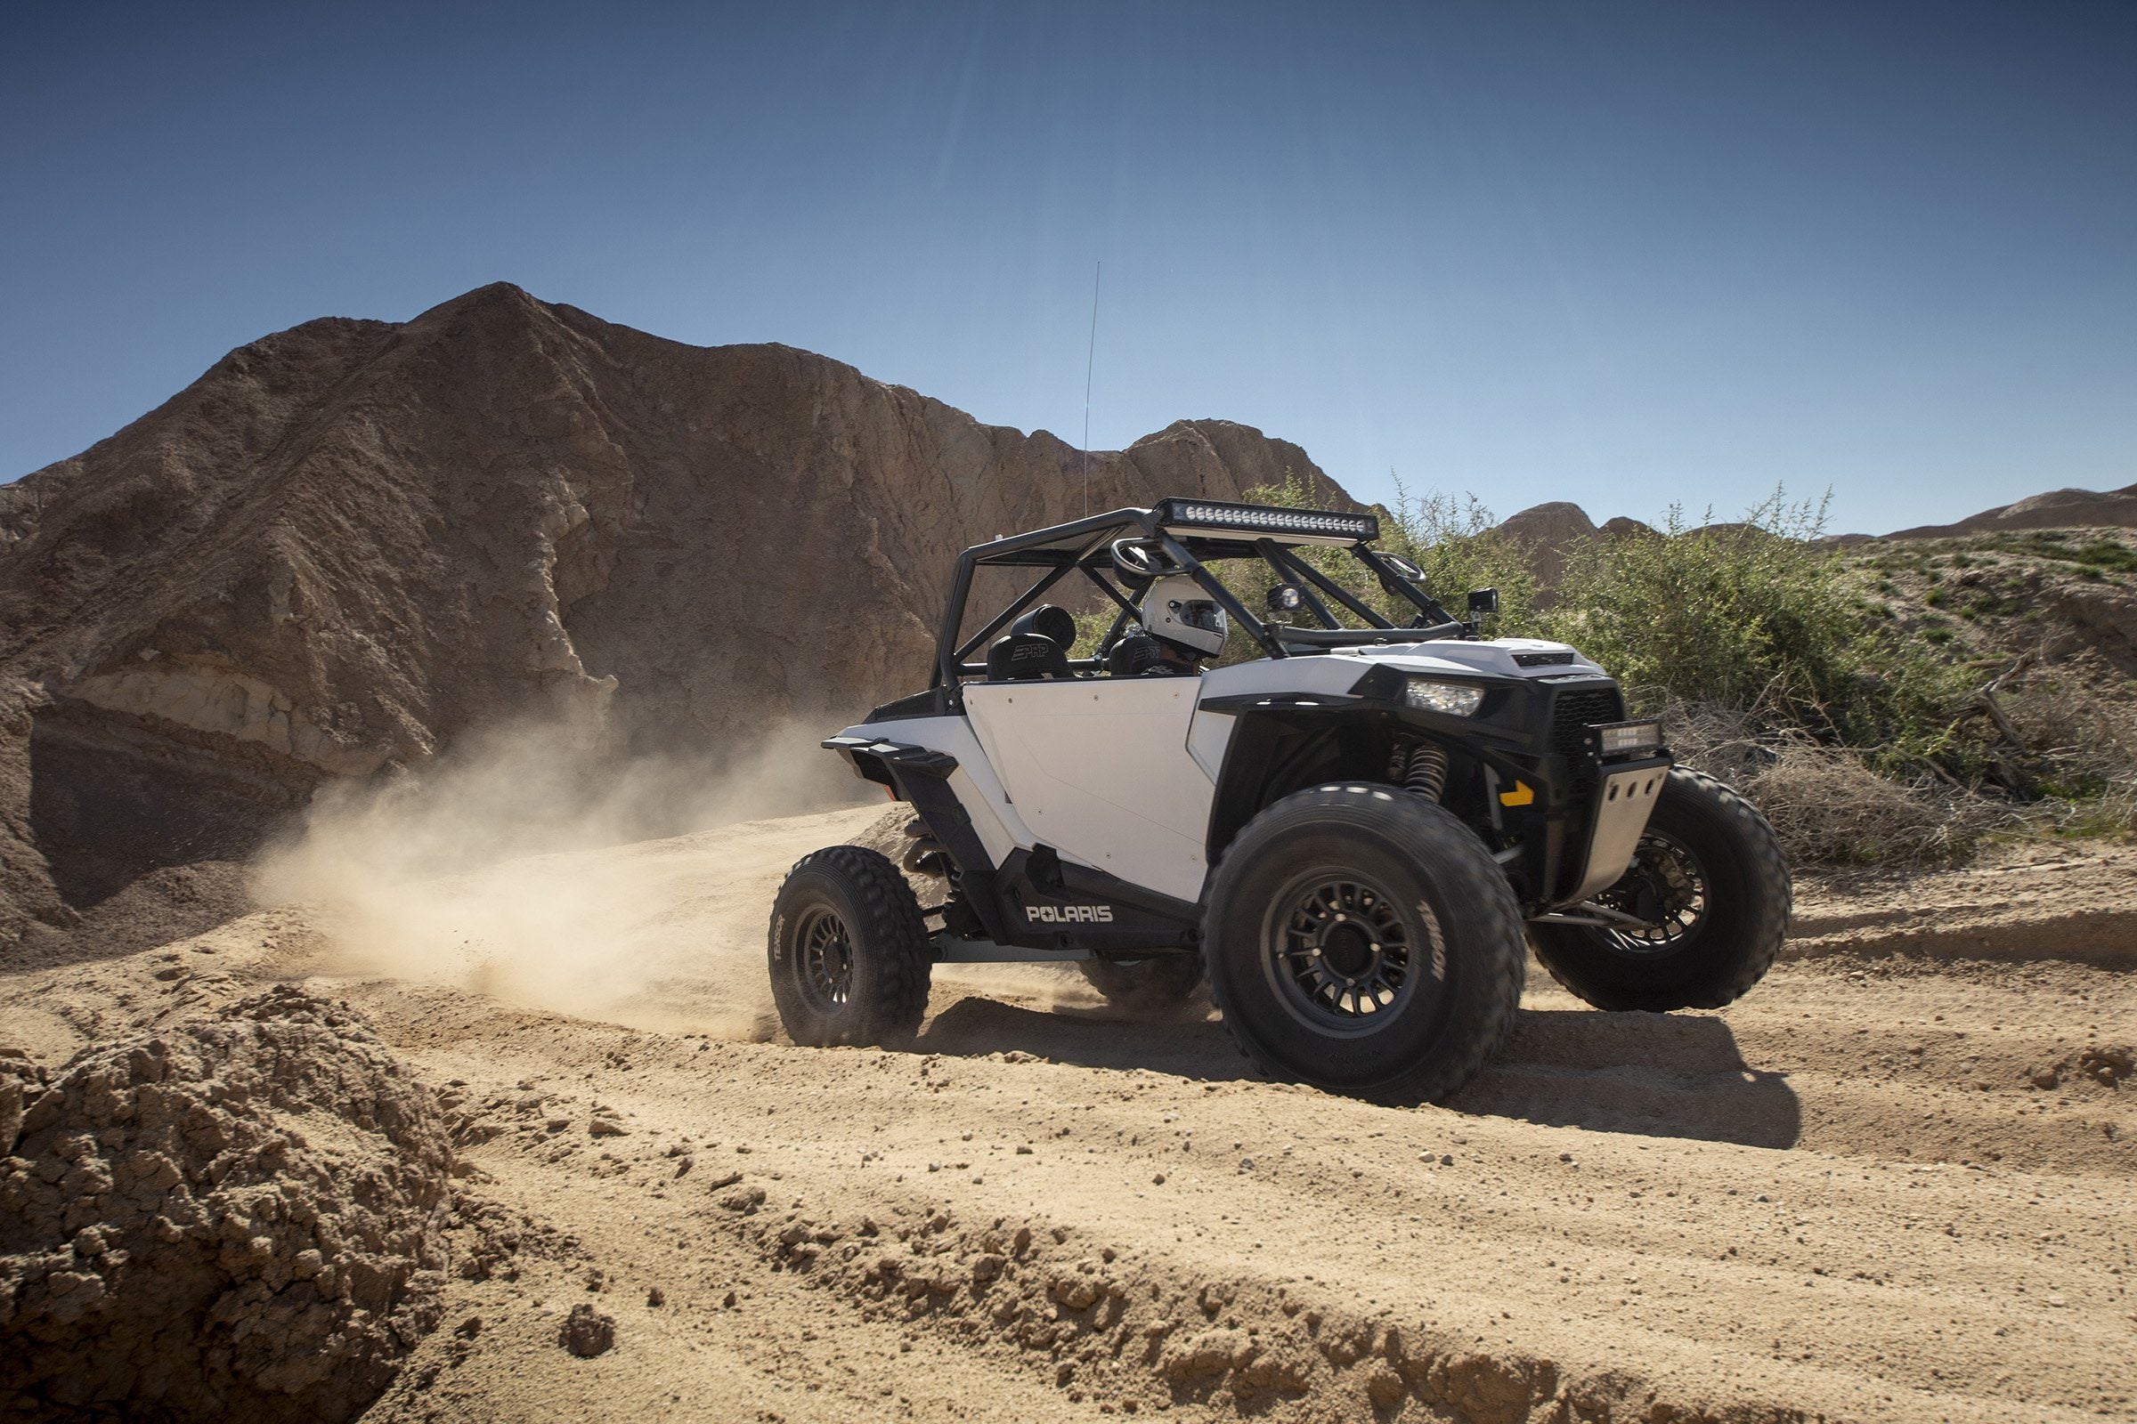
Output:
<instances>
[{"instance_id":1,"label":"large brown rocky mountain rising behind the buggy and dust","mask_svg":"<svg viewBox=\"0 0 2137 1424\"><path fill-rule=\"evenodd\" d=\"M836 728L925 685L957 549L1286 470L1180 421L1086 493L1045 431L506 284L263 337L0 487L0 944L500 717Z\"/></svg>"}]
</instances>

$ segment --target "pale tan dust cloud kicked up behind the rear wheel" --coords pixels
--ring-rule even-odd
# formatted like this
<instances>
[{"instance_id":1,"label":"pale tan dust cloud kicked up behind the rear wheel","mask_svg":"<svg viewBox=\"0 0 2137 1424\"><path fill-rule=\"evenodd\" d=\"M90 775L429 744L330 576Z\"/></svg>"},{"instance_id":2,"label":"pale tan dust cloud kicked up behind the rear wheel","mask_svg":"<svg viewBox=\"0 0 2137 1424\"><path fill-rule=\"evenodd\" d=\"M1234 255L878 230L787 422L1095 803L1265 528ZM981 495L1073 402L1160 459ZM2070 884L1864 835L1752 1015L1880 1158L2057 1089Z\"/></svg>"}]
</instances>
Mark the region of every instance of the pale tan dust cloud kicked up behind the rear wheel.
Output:
<instances>
[{"instance_id":1,"label":"pale tan dust cloud kicked up behind the rear wheel","mask_svg":"<svg viewBox=\"0 0 2137 1424\"><path fill-rule=\"evenodd\" d=\"M853 839L868 816L851 807L883 805L821 737L786 728L714 764L624 754L588 726L502 726L421 775L321 794L261 858L254 897L312 907L344 974L765 1038L789 841Z\"/></svg>"}]
</instances>

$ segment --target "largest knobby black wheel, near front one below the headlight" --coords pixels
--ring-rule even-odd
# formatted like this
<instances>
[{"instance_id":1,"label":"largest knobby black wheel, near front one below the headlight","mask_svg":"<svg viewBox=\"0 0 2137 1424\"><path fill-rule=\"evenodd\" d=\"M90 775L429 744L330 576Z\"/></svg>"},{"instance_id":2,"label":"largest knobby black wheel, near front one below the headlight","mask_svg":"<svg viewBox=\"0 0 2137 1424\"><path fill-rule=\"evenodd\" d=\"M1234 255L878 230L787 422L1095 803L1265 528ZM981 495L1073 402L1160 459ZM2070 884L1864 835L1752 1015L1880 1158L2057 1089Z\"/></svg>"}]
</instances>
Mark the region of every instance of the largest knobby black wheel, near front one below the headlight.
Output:
<instances>
[{"instance_id":1,"label":"largest knobby black wheel, near front one below the headlight","mask_svg":"<svg viewBox=\"0 0 2137 1424\"><path fill-rule=\"evenodd\" d=\"M1528 946L1468 826L1415 792L1346 784L1284 796L1225 850L1203 961L1263 1074L1417 1104L1498 1050Z\"/></svg>"}]
</instances>

